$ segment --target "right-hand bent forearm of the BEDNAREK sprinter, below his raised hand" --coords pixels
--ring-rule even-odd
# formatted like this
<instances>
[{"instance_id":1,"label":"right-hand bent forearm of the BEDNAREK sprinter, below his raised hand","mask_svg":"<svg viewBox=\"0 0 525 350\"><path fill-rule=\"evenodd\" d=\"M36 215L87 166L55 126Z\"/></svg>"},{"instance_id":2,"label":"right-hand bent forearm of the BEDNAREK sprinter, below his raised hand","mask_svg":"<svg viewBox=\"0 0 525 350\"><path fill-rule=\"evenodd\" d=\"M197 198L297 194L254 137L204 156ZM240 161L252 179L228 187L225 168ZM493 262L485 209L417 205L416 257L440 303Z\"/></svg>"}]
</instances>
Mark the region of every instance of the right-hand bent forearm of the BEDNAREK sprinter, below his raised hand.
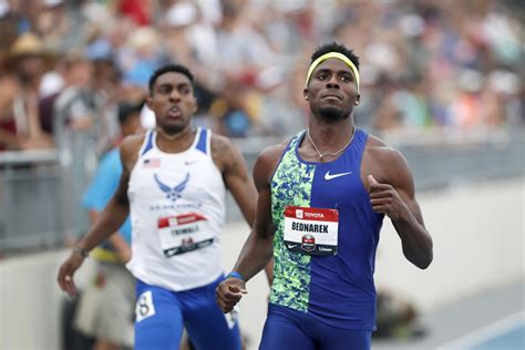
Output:
<instances>
[{"instance_id":1,"label":"right-hand bent forearm of the BEDNAREK sprinter, below his raised hand","mask_svg":"<svg viewBox=\"0 0 525 350\"><path fill-rule=\"evenodd\" d=\"M412 213L409 217L392 220L392 224L401 238L406 259L421 269L429 267L433 258L433 244L426 228L418 222Z\"/></svg>"}]
</instances>

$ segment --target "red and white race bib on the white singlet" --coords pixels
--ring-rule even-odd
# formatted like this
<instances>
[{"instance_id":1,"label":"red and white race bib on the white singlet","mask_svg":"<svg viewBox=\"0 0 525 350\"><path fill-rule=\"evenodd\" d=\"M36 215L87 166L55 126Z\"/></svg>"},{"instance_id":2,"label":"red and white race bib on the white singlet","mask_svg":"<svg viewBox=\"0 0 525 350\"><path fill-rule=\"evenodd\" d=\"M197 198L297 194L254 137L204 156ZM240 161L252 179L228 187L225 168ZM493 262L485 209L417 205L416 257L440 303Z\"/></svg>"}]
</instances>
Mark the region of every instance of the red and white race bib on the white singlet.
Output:
<instances>
[{"instance_id":1,"label":"red and white race bib on the white singlet","mask_svg":"<svg viewBox=\"0 0 525 350\"><path fill-rule=\"evenodd\" d=\"M158 236L166 257L204 248L214 241L207 218L196 213L161 217Z\"/></svg>"}]
</instances>

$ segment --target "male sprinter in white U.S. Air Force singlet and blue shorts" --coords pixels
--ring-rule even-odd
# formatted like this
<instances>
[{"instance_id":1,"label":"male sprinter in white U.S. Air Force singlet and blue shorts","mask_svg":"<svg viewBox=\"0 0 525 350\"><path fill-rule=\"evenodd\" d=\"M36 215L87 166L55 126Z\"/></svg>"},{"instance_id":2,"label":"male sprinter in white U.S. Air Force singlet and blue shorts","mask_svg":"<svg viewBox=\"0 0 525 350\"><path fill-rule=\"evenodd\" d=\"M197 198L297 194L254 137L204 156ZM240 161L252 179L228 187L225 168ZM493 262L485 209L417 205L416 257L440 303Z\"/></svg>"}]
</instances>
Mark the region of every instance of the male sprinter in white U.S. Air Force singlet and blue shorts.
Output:
<instances>
[{"instance_id":1,"label":"male sprinter in white U.S. Air Force singlet and blue shorts","mask_svg":"<svg viewBox=\"0 0 525 350\"><path fill-rule=\"evenodd\" d=\"M257 192L228 138L192 127L193 86L183 65L153 74L147 105L157 127L124 140L120 187L59 271L60 287L74 295L74 271L130 213L135 349L178 349L183 328L197 349L240 349L235 315L224 316L215 302L224 279L219 234L226 188L250 226Z\"/></svg>"}]
</instances>

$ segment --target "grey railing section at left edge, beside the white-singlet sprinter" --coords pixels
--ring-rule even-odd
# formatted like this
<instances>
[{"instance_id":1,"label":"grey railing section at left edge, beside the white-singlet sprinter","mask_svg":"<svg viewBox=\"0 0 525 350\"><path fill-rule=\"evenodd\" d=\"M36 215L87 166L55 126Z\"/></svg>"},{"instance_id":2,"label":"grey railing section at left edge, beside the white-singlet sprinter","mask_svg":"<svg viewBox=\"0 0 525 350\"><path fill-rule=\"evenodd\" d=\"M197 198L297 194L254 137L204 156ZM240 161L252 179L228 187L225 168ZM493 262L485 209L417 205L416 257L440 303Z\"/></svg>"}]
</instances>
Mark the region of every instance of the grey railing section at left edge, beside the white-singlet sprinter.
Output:
<instances>
[{"instance_id":1,"label":"grey railing section at left edge, beside the white-singlet sprinter","mask_svg":"<svg viewBox=\"0 0 525 350\"><path fill-rule=\"evenodd\" d=\"M0 153L0 253L62 244L54 151Z\"/></svg>"}]
</instances>

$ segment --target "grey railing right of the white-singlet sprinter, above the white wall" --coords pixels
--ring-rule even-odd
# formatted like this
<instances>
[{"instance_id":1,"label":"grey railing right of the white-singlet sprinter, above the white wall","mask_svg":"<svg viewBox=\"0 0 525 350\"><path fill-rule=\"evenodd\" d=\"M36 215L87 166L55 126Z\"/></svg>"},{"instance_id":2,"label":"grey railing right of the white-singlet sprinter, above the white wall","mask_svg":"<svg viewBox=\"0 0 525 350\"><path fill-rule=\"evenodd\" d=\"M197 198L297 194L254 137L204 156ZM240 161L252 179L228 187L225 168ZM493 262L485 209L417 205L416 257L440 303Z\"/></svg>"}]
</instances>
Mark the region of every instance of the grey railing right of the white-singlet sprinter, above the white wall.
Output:
<instances>
[{"instance_id":1,"label":"grey railing right of the white-singlet sprinter, above the white wall","mask_svg":"<svg viewBox=\"0 0 525 350\"><path fill-rule=\"evenodd\" d=\"M403 131L381 138L404 155L418 193L525 174L525 128L521 125L494 131ZM251 169L261 150L284 140L243 138L234 142ZM228 194L227 200L228 217L240 219L241 214L231 195Z\"/></svg>"}]
</instances>

